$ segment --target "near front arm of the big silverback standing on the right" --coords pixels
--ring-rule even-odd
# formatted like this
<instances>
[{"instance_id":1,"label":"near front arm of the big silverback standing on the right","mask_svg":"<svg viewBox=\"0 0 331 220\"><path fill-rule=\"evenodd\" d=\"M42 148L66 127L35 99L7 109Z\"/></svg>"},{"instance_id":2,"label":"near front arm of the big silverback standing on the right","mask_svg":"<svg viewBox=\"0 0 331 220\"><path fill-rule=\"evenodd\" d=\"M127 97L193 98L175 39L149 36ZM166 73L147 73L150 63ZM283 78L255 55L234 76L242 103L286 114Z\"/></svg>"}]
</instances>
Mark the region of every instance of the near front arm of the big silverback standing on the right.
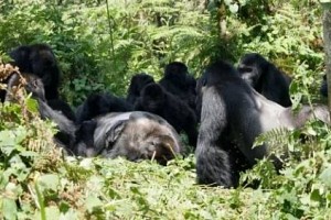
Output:
<instances>
[{"instance_id":1,"label":"near front arm of the big silverback standing on the right","mask_svg":"<svg viewBox=\"0 0 331 220\"><path fill-rule=\"evenodd\" d=\"M210 88L204 91L201 111L196 156L196 174L199 184L216 184L233 186L231 165L227 153L220 146L220 136L227 125L224 100Z\"/></svg>"}]
</instances>

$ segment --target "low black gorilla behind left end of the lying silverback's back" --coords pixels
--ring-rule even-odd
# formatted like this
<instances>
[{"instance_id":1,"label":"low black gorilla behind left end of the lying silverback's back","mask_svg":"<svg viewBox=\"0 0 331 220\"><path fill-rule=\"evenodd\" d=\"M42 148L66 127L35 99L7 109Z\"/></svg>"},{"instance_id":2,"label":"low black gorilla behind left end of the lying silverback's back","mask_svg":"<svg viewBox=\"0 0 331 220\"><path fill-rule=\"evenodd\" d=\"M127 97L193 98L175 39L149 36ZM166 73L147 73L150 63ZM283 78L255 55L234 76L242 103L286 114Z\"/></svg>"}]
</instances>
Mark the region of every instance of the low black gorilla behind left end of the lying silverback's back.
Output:
<instances>
[{"instance_id":1,"label":"low black gorilla behind left end of the lying silverback's back","mask_svg":"<svg viewBox=\"0 0 331 220\"><path fill-rule=\"evenodd\" d=\"M111 94L93 94L76 110L76 123L110 112L132 111L134 106Z\"/></svg>"}]
</instances>

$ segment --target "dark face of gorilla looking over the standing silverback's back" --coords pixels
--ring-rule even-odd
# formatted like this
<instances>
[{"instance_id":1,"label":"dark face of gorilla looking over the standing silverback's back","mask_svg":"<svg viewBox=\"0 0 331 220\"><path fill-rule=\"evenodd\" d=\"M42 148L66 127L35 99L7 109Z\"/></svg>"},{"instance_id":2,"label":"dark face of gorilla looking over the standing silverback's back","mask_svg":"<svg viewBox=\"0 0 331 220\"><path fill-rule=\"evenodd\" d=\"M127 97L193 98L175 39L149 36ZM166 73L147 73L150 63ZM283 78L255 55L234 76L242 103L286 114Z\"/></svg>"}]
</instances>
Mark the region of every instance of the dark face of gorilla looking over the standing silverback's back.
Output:
<instances>
[{"instance_id":1,"label":"dark face of gorilla looking over the standing silverback's back","mask_svg":"<svg viewBox=\"0 0 331 220\"><path fill-rule=\"evenodd\" d=\"M238 65L241 77L252 87L257 85L261 73L266 68L267 61L257 53L246 54L242 57Z\"/></svg>"}]
</instances>

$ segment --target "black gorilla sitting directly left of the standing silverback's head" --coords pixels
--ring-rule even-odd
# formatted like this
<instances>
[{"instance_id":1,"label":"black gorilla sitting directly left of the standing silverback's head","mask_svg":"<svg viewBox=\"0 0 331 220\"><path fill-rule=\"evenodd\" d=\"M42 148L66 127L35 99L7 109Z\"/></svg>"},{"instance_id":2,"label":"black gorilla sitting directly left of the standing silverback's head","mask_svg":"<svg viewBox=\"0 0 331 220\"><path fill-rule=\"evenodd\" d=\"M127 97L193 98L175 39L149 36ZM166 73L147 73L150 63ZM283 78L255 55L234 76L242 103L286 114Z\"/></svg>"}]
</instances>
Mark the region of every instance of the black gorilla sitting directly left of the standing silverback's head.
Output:
<instances>
[{"instance_id":1,"label":"black gorilla sitting directly left of the standing silverback's head","mask_svg":"<svg viewBox=\"0 0 331 220\"><path fill-rule=\"evenodd\" d=\"M185 101L195 110L196 81L188 72L188 66L181 62L172 62L164 68L164 76L159 84L170 94Z\"/></svg>"}]
</instances>

